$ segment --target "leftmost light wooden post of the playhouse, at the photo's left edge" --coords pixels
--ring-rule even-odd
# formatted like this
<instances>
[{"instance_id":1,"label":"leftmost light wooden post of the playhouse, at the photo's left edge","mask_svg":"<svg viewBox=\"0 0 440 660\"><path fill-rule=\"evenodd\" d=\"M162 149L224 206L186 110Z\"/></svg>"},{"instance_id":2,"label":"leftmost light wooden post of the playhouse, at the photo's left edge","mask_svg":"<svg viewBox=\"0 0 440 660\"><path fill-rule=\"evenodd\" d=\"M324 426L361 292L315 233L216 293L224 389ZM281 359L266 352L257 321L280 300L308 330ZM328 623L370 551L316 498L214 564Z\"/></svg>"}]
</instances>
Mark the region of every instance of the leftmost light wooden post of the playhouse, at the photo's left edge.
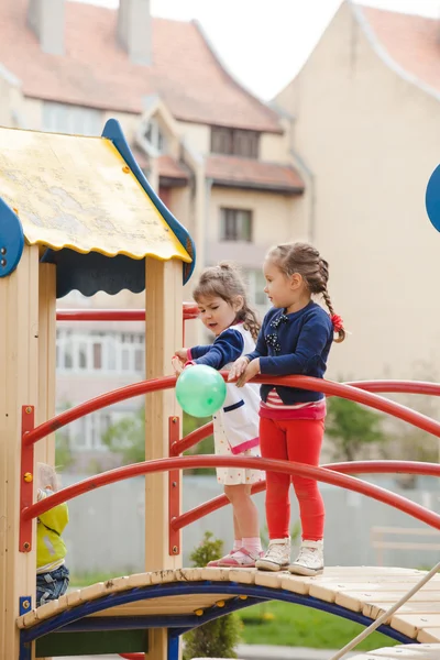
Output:
<instances>
[{"instance_id":1,"label":"leftmost light wooden post of the playhouse, at the photo's left edge","mask_svg":"<svg viewBox=\"0 0 440 660\"><path fill-rule=\"evenodd\" d=\"M25 245L18 268L0 278L0 658L18 660L19 598L35 604L35 547L19 552L19 520L21 408L37 405L37 246Z\"/></svg>"}]
</instances>

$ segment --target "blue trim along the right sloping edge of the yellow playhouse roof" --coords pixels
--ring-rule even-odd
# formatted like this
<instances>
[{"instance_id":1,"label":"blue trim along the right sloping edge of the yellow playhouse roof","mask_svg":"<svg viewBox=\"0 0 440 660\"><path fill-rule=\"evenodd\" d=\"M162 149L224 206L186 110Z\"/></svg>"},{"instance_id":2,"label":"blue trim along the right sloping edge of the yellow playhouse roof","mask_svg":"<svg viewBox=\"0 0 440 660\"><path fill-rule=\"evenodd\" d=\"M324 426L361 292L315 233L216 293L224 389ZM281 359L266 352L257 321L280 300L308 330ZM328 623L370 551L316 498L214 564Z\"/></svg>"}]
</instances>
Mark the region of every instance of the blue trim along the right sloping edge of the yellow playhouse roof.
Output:
<instances>
[{"instance_id":1,"label":"blue trim along the right sloping edge of the yellow playhouse roof","mask_svg":"<svg viewBox=\"0 0 440 660\"><path fill-rule=\"evenodd\" d=\"M189 256L193 258L190 264L183 263L184 266L184 284L188 282L190 276L193 275L195 265L196 265L196 246L188 231L176 220L173 213L167 209L162 199L156 195L151 185L148 184L144 173L138 165L133 154L131 153L130 146L125 140L125 136L122 132L121 124L116 119L109 119L106 122L105 129L102 131L102 138L107 138L111 140L114 144L116 148L119 151L158 212L164 217L169 228L176 234L177 240L182 243L185 250L188 252Z\"/></svg>"}]
</instances>

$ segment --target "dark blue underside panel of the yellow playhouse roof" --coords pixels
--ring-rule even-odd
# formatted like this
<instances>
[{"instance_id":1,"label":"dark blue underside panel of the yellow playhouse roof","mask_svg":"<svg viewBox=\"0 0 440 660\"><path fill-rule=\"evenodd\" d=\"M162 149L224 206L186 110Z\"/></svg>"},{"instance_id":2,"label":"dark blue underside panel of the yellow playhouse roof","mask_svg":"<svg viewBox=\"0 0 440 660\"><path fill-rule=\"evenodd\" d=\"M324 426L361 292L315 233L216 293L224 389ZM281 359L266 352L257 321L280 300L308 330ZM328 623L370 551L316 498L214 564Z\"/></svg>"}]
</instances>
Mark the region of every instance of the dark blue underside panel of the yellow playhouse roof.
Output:
<instances>
[{"instance_id":1,"label":"dark blue underside panel of the yellow playhouse roof","mask_svg":"<svg viewBox=\"0 0 440 660\"><path fill-rule=\"evenodd\" d=\"M99 252L81 254L64 248L46 250L42 262L56 264L56 297L63 298L73 289L84 296L105 292L110 296L129 289L141 294L145 288L145 260L118 254L106 256Z\"/></svg>"}]
</instances>

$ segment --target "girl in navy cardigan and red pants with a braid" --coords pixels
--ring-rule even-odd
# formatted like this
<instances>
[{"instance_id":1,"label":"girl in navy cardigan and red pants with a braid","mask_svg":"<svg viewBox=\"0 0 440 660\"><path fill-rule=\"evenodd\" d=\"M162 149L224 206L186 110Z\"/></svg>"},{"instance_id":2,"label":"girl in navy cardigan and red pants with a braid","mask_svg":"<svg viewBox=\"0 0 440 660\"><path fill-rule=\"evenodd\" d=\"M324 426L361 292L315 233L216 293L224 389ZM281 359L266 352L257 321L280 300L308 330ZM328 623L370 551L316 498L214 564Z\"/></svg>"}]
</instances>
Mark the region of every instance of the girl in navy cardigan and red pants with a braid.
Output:
<instances>
[{"instance_id":1,"label":"girl in navy cardigan and red pants with a braid","mask_svg":"<svg viewBox=\"0 0 440 660\"><path fill-rule=\"evenodd\" d=\"M287 243L270 251L264 262L267 294L273 308L266 314L255 351L240 358L229 378L244 386L256 374L267 376L307 375L322 378L333 341L345 338L343 322L334 314L327 288L329 265L307 243ZM321 295L330 315L312 300ZM263 458L319 464L326 398L322 393L296 387L262 385L260 447ZM299 504L302 543L290 563L289 486ZM256 568L317 575L323 571L322 497L315 480L267 473L267 552Z\"/></svg>"}]
</instances>

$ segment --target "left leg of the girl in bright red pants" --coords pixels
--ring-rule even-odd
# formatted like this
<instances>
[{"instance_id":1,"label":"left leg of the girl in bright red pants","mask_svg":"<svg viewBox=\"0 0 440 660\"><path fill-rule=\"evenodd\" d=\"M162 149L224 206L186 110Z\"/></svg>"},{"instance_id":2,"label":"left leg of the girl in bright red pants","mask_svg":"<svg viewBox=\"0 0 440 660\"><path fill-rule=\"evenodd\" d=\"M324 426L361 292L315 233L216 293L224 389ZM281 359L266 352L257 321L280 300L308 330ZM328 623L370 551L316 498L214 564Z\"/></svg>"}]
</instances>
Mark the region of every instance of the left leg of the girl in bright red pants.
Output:
<instances>
[{"instance_id":1,"label":"left leg of the girl in bright red pants","mask_svg":"<svg viewBox=\"0 0 440 660\"><path fill-rule=\"evenodd\" d=\"M272 419L260 419L260 449L263 459L287 461L286 433ZM286 539L290 536L289 487L288 474L266 473L266 519L270 539Z\"/></svg>"}]
</instances>

